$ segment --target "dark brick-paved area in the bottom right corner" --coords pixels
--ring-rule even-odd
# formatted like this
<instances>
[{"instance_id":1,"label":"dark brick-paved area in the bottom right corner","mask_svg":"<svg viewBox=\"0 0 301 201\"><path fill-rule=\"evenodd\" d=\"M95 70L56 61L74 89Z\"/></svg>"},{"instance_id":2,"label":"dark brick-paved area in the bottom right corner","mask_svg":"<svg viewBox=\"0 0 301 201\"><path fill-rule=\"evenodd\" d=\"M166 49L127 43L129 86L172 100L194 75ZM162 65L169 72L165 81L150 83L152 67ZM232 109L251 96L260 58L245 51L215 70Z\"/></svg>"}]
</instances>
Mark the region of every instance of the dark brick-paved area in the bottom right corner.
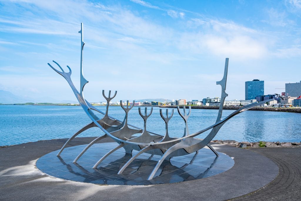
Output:
<instances>
[{"instance_id":1,"label":"dark brick-paved area in the bottom right corner","mask_svg":"<svg viewBox=\"0 0 301 201\"><path fill-rule=\"evenodd\" d=\"M264 188L235 200L301 200L301 147L250 150L272 159L279 174Z\"/></svg>"}]
</instances>

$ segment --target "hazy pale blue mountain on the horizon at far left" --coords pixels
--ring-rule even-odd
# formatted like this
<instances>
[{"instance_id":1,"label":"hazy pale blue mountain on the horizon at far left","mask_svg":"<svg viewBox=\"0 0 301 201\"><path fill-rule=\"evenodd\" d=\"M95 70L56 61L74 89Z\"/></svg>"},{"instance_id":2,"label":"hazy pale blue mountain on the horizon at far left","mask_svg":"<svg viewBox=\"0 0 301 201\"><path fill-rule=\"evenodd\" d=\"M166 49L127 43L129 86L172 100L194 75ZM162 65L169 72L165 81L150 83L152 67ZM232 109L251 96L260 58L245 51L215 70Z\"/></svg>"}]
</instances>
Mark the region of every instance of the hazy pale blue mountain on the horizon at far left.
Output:
<instances>
[{"instance_id":1,"label":"hazy pale blue mountain on the horizon at far left","mask_svg":"<svg viewBox=\"0 0 301 201\"><path fill-rule=\"evenodd\" d=\"M42 98L31 98L27 96L17 96L12 94L9 91L0 90L0 103L2 104L15 104L15 103L40 103L40 102L48 102L48 103L78 103L76 101L71 100L56 100L51 97L42 97Z\"/></svg>"}]
</instances>

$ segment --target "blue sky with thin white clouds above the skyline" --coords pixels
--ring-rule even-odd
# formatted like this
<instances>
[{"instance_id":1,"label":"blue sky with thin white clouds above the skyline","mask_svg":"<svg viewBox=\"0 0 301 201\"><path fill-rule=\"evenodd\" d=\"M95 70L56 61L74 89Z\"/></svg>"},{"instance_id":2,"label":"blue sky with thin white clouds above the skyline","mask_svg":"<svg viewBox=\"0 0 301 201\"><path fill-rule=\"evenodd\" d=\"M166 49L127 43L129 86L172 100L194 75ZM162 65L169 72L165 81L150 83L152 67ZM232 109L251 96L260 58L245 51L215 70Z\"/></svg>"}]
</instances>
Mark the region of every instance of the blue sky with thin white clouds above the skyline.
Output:
<instances>
[{"instance_id":1,"label":"blue sky with thin white clouds above the skyline","mask_svg":"<svg viewBox=\"0 0 301 201\"><path fill-rule=\"evenodd\" d=\"M265 94L301 80L301 1L0 1L0 90L75 100L48 67L69 65L79 87L84 24L85 98L244 99L245 81Z\"/></svg>"}]
</instances>

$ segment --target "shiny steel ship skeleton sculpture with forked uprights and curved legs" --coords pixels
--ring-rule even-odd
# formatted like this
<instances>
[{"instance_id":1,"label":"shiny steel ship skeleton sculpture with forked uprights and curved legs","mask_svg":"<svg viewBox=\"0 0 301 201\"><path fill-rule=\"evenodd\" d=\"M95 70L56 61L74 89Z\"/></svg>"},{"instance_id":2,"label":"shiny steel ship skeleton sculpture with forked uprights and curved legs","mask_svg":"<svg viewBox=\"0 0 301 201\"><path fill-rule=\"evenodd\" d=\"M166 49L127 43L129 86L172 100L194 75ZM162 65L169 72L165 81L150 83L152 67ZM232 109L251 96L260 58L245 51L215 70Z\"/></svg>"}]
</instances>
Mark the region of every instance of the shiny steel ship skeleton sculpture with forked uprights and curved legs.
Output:
<instances>
[{"instance_id":1,"label":"shiny steel ship skeleton sculpture with forked uprights and curved legs","mask_svg":"<svg viewBox=\"0 0 301 201\"><path fill-rule=\"evenodd\" d=\"M51 64L48 63L48 65L56 71L58 74L63 76L67 82L69 83L71 89L73 90L76 98L79 101L79 104L82 106L83 110L85 113L88 115L88 117L92 120L92 122L82 129L80 129L77 133L75 133L67 142L64 144L64 146L61 148L61 150L58 152L57 156L61 154L61 152L64 150L64 148L67 146L67 144L77 135L82 133L83 131L92 128L92 127L98 127L100 128L103 132L104 135L97 137L95 140L93 140L91 143L89 143L85 149L82 150L82 152L74 159L74 163L85 153L85 151L92 146L94 143L98 142L101 139L104 139L105 137L111 137L113 140L115 140L119 145L116 146L114 149L112 149L110 152L105 154L104 156L99 159L98 162L95 163L93 168L97 168L97 166L106 158L108 157L111 153L116 151L117 149L124 148L126 153L132 154L132 150L137 150L138 153L132 158L126 162L125 165L119 170L118 174L122 174L123 171L127 168L127 166L135 160L139 155L142 153L149 153L152 155L161 155L162 157L160 160L157 162L157 165L154 167L153 171L150 173L148 180L151 180L157 170L159 169L160 165L165 159L170 159L173 156L182 156L182 155L187 155L193 152L197 152L198 150L202 149L205 146L208 146L216 156L218 156L218 153L208 144L213 137L216 135L216 133L219 131L219 129L228 121L230 118L234 117L235 115L239 114L240 112L246 111L250 108L253 108L257 105L261 105L265 102L272 101L274 99L270 100L265 100L262 102L254 102L251 103L245 107L239 108L238 110L234 111L224 119L222 118L222 111L223 111L223 103L225 101L225 98L228 96L228 94L225 92L226 90L226 81L227 81L227 73L228 73L228 61L229 59L226 58L225 61L225 71L224 71L224 77L222 78L221 81L216 82L216 84L219 84L222 86L222 94L221 94L221 102L219 106L219 113L216 118L216 123L203 129L200 130L196 133L190 134L188 131L188 117L191 114L191 107L189 107L189 113L186 114L185 107L184 108L184 113L182 114L180 112L180 108L178 107L178 113L179 115L184 119L185 121L185 129L184 129L184 135L183 137L180 138L172 138L169 137L168 133L168 122L172 118L172 115L174 113L174 109L172 109L171 114L169 115L168 109L166 109L166 117L163 115L162 109L160 109L160 115L165 121L166 128L165 128L165 134L160 135L157 133L153 133L150 131L147 131L146 125L147 125L147 118L151 115L153 108L151 108L151 111L149 114L147 114L147 108L145 108L144 113L141 112L141 108L139 108L139 114L144 120L144 127L143 129L138 128L134 125L128 124L127 118L129 111L133 108L133 105L135 101L133 101L132 106L129 107L129 101L127 101L126 107L123 106L122 101L120 101L120 105L125 111L125 117L123 120L118 120L116 118L113 118L108 115L108 108L109 108L109 102L111 99L113 99L116 96L116 91L113 96L111 96L111 91L109 91L109 95L105 96L104 90L103 90L103 96L107 100L107 107L106 111L100 111L98 108L95 108L92 106L85 98L83 94L83 89L86 83L88 81L84 78L83 76L83 67L82 67L82 52L83 52L83 47L84 47L84 42L83 42L83 25L81 24L81 30L79 31L81 34L81 62L80 62L80 89L79 91L76 89L74 86L70 76L71 76L71 69L69 66L67 68L69 69L69 72L65 72L64 69L55 61L53 61L57 66L61 69L61 71L58 71L56 68L52 67ZM104 115L103 118L98 118L95 115L95 112L98 112L102 115ZM198 135L201 133L210 130L210 133L203 139L196 139ZM133 137L134 134L141 133L138 137Z\"/></svg>"}]
</instances>

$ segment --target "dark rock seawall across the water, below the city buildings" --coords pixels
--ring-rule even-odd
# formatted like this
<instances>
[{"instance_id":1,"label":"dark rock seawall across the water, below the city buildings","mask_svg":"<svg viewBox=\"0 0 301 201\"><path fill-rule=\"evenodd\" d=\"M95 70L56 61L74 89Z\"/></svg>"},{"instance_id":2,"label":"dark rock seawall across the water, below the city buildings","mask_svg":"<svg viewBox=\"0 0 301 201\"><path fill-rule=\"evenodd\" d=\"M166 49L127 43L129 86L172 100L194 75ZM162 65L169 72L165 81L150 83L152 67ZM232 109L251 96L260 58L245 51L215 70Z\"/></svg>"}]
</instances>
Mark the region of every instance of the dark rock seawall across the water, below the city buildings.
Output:
<instances>
[{"instance_id":1,"label":"dark rock seawall across the water, below the city buildings","mask_svg":"<svg viewBox=\"0 0 301 201\"><path fill-rule=\"evenodd\" d=\"M183 108L183 105L179 106ZM189 106L185 106L188 108ZM160 108L177 108L176 105L161 105ZM203 105L192 105L192 109L219 109L219 106L203 106ZM224 106L224 110L237 110L241 107L235 106ZM275 111L275 112L294 112L294 113L301 113L301 108L270 108L270 107L254 107L249 110L255 111Z\"/></svg>"}]
</instances>

